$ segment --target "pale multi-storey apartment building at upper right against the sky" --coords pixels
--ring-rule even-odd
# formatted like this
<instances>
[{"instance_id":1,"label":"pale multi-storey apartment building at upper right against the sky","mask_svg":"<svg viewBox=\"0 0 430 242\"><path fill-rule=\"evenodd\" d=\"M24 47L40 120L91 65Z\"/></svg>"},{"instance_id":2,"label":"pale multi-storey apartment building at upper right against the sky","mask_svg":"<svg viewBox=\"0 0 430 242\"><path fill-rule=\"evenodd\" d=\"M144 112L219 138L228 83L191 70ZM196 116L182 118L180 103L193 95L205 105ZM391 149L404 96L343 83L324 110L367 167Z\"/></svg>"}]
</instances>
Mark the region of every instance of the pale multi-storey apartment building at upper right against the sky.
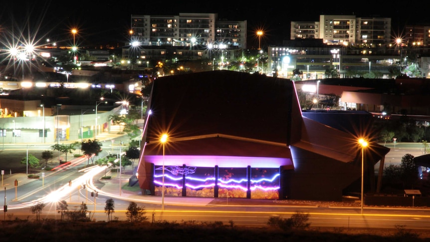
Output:
<instances>
[{"instance_id":1,"label":"pale multi-storey apartment building at upper right against the sky","mask_svg":"<svg viewBox=\"0 0 430 242\"><path fill-rule=\"evenodd\" d=\"M390 43L391 18L320 15L320 21L292 21L291 39L319 38L326 44Z\"/></svg>"}]
</instances>

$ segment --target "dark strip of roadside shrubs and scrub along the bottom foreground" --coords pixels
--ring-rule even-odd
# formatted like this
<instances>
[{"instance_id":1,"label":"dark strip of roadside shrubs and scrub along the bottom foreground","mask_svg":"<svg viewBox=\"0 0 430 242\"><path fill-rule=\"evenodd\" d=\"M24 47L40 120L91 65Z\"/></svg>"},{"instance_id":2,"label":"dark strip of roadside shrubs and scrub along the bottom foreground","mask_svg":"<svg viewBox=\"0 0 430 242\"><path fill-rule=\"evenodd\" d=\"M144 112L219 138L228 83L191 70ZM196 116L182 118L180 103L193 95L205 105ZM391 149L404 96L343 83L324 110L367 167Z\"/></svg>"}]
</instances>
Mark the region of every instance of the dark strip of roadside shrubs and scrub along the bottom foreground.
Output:
<instances>
[{"instance_id":1,"label":"dark strip of roadside shrubs and scrub along the bottom foreground","mask_svg":"<svg viewBox=\"0 0 430 242\"><path fill-rule=\"evenodd\" d=\"M40 220L44 205L30 208L36 219L30 221L13 220L13 214L1 222L0 238L13 238L14 241L330 241L330 242L424 242L430 238L427 231L408 230L405 225L393 229L356 228L315 228L308 223L309 214L296 212L290 218L270 217L267 226L239 227L230 220L228 224L220 221L155 221L146 217L145 207L131 202L127 208L127 220L112 218L115 203L108 199L105 206L107 222L91 221L91 212L82 203L74 210L68 210L67 203L60 201L57 212L60 220ZM154 218L154 217L153 217ZM0 240L1 241L1 240Z\"/></svg>"}]
</instances>

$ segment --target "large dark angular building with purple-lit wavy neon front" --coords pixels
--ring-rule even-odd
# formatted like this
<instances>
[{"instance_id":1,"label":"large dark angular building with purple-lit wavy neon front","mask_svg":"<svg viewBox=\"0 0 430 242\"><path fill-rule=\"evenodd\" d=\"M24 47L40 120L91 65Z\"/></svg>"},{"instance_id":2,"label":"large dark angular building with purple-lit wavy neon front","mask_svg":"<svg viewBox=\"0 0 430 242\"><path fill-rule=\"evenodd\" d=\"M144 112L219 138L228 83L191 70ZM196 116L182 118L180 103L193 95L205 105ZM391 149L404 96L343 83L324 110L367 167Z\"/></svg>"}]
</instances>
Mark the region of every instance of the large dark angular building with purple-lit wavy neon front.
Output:
<instances>
[{"instance_id":1,"label":"large dark angular building with purple-lit wavy neon front","mask_svg":"<svg viewBox=\"0 0 430 242\"><path fill-rule=\"evenodd\" d=\"M369 142L367 178L389 151L373 142L369 113L305 117L288 79L210 71L152 88L138 166L145 195L161 195L164 167L165 196L338 201L360 191L359 138Z\"/></svg>"}]
</instances>

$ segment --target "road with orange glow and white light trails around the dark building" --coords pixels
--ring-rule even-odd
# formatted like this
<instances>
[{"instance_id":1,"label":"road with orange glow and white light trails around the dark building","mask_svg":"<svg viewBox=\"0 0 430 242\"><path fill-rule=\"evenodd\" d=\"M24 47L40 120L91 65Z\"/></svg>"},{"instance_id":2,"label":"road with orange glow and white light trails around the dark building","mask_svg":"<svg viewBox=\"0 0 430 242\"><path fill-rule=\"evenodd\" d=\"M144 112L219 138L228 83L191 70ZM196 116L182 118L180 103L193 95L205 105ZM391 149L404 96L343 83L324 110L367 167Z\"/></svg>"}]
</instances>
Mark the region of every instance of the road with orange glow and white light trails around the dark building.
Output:
<instances>
[{"instance_id":1,"label":"road with orange glow and white light trails around the dark building","mask_svg":"<svg viewBox=\"0 0 430 242\"><path fill-rule=\"evenodd\" d=\"M117 142L117 140L115 141ZM118 140L119 142L119 140ZM105 142L105 152L111 150L117 152L118 147ZM114 144L115 146L115 144ZM415 145L417 146L417 145ZM407 147L396 145L396 149L390 151L387 157L400 159L405 154L418 154L419 147ZM24 148L25 147L25 148ZM29 152L41 152L50 146L40 145L38 148L28 149ZM25 149L27 146L15 146L17 149ZM41 149L40 149L41 148ZM9 152L4 150L2 152ZM16 151L15 151L16 153ZM12 152L13 154L13 152ZM16 155L15 155L16 156ZM72 159L72 156L70 157ZM165 198L165 210L161 210L161 198L155 196L129 196L123 194L119 196L119 184L101 184L97 178L105 173L104 168L89 174L89 170L83 170L86 159L74 159L72 164L64 169L54 170L49 176L44 177L22 186L18 191L14 189L5 190L6 204L8 211L3 214L4 219L29 218L33 215L29 213L29 208L35 200L50 198L52 194L55 199L65 200L69 210L78 209L82 203L87 205L90 217L95 221L106 221L104 213L105 202L109 198L115 201L115 213L113 217L119 220L126 220L125 212L130 202L136 202L139 206L145 207L146 216L149 220L154 215L156 221L183 222L215 222L221 221L229 224L232 221L237 226L265 226L270 217L277 216L289 218L296 212L308 213L309 223L312 227L334 227L334 228L395 228L396 225L406 225L408 229L430 228L430 211L427 209L381 209L365 208L364 215L360 214L360 208L334 208L315 206L291 206L291 205L259 205L259 204L235 204L232 200L225 199L225 203L213 203L213 199L208 198ZM20 164L21 166L22 165ZM93 177L95 179L93 179ZM114 179L115 180L115 179ZM69 188L69 181L72 186ZM124 182L124 181L123 181ZM126 182L126 181L125 181ZM86 184L86 189L83 189ZM109 189L110 186L110 189ZM113 189L112 189L113 186ZM118 188L118 189L117 189ZM91 191L98 191L99 196L94 198L89 195ZM15 198L16 201L15 201ZM202 202L203 200L203 202ZM218 199L219 200L219 199ZM56 205L49 200L42 212L41 218L59 219ZM214 200L215 201L215 200ZM245 202L244 200L241 200ZM219 202L219 201L218 201ZM249 201L246 201L249 202ZM1 217L0 217L1 218Z\"/></svg>"}]
</instances>

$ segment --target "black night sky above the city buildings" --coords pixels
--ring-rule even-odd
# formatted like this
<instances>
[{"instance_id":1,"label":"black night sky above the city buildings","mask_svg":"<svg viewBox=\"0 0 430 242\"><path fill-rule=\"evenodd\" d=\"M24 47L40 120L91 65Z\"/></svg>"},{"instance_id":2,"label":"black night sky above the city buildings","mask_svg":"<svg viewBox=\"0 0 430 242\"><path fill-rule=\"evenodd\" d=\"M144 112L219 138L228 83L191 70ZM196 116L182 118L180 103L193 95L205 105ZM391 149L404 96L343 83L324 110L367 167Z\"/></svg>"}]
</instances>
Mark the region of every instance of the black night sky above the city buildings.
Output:
<instances>
[{"instance_id":1,"label":"black night sky above the city buildings","mask_svg":"<svg viewBox=\"0 0 430 242\"><path fill-rule=\"evenodd\" d=\"M181 3L180 3L181 2ZM184 3L185 2L185 3ZM147 0L8 0L0 9L1 27L24 29L24 35L37 33L37 38L51 41L73 41L70 33L77 27L76 41L93 43L127 42L131 14L178 15L180 12L218 13L218 18L247 20L248 48L258 44L256 29L264 29L262 45L281 44L290 37L290 21L319 21L320 14L345 14L357 17L391 17L393 33L401 34L405 24L429 23L428 3L409 4L405 1L356 1L348 4L327 1L283 1L283 3L253 1L147 1ZM271 4L272 3L272 4Z\"/></svg>"}]
</instances>

